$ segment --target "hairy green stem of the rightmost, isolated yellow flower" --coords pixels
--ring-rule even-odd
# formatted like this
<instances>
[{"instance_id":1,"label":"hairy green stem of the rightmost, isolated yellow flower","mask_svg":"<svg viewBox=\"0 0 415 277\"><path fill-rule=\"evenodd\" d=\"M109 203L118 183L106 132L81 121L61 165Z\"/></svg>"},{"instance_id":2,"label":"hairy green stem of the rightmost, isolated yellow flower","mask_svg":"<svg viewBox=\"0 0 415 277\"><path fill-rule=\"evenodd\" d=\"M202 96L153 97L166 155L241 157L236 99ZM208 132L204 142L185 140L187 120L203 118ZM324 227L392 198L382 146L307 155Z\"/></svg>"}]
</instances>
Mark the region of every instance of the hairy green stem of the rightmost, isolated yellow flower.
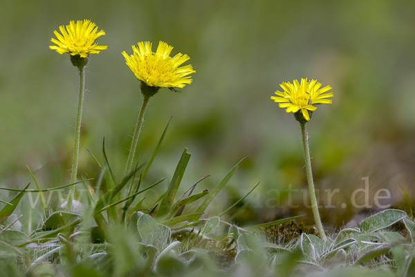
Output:
<instances>
[{"instance_id":1,"label":"hairy green stem of the rightmost, isolated yellow flower","mask_svg":"<svg viewBox=\"0 0 415 277\"><path fill-rule=\"evenodd\" d=\"M304 146L304 158L306 159L308 189L310 189L311 207L313 208L315 225L317 226L317 231L320 234L320 237L323 240L326 240L326 234L324 233L322 221L320 220L320 213L318 213L317 199L315 198L313 172L311 171L310 149L308 149L308 133L306 130L306 123L300 123L300 125Z\"/></svg>"}]
</instances>

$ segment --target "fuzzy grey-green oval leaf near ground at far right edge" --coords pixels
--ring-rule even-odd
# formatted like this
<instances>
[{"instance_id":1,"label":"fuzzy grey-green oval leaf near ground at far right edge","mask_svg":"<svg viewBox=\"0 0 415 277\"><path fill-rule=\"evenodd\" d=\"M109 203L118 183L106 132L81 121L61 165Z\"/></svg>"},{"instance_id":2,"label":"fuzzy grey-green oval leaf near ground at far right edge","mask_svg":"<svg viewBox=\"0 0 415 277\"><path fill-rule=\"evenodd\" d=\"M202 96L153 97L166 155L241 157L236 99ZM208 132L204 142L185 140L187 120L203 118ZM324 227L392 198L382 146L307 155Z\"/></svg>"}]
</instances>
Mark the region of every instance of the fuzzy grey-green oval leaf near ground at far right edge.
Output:
<instances>
[{"instance_id":1,"label":"fuzzy grey-green oval leaf near ground at far right edge","mask_svg":"<svg viewBox=\"0 0 415 277\"><path fill-rule=\"evenodd\" d=\"M369 218L360 222L358 227L362 232L374 232L394 225L402 218L407 218L405 211L389 209L376 213L374 216L369 216Z\"/></svg>"}]
</instances>

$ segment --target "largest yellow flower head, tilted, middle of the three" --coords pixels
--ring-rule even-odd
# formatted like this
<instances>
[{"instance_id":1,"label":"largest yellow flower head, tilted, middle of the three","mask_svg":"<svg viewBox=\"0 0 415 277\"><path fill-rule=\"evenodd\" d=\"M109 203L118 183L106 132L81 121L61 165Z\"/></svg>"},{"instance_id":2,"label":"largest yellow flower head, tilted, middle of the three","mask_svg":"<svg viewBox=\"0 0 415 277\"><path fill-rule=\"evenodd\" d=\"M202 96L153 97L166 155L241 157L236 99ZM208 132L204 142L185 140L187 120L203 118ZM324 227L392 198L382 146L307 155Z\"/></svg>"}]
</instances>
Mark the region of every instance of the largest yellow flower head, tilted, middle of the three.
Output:
<instances>
[{"instance_id":1,"label":"largest yellow flower head, tilted, middle of the three","mask_svg":"<svg viewBox=\"0 0 415 277\"><path fill-rule=\"evenodd\" d=\"M127 52L122 52L127 66L136 75L137 79L158 88L183 88L185 84L192 83L193 70L191 65L178 67L190 59L189 56L178 53L170 57L173 47L160 41L156 52L151 50L149 41L139 42L138 48L132 46L133 55L129 56Z\"/></svg>"}]
</instances>

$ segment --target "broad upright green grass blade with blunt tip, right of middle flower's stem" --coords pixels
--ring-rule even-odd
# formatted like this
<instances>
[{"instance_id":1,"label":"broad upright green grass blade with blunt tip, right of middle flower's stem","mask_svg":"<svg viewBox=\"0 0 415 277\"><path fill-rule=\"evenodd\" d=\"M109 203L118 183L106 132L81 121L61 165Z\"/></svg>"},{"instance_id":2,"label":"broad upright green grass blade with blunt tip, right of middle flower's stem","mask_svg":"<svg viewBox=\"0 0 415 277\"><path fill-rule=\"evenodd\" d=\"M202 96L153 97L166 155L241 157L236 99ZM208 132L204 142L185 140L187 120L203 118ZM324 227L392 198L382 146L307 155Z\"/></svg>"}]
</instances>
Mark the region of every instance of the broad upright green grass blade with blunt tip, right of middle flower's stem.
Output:
<instances>
[{"instance_id":1,"label":"broad upright green grass blade with blunt tip, right of middle flower's stem","mask_svg":"<svg viewBox=\"0 0 415 277\"><path fill-rule=\"evenodd\" d=\"M160 209L157 211L158 217L165 216L165 214L172 208L174 197L176 196L178 187L180 186L181 180L185 173L187 163L190 160L190 155L190 153L187 153L187 148L185 148L181 159L177 164L176 171L174 171L172 182L170 182L169 188L167 189L163 200L161 200ZM199 213L199 211L196 211L196 213ZM203 211L200 213L203 213Z\"/></svg>"}]
</instances>

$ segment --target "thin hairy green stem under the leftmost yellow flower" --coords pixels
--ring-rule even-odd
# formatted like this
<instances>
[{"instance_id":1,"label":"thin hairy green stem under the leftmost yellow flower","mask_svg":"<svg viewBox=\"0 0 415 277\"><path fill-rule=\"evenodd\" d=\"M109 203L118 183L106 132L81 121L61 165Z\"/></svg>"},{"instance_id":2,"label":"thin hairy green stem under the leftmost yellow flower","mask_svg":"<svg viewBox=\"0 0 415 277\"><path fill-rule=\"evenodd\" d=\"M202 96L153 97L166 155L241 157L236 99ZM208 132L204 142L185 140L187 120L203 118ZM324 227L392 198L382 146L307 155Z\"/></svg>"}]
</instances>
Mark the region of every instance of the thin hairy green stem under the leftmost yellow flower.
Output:
<instances>
[{"instance_id":1,"label":"thin hairy green stem under the leftmost yellow flower","mask_svg":"<svg viewBox=\"0 0 415 277\"><path fill-rule=\"evenodd\" d=\"M82 120L82 106L84 105L85 92L85 66L78 66L78 73L80 74L80 99L78 100L78 108L75 124L75 141L73 143L73 162L71 173L71 184L76 182L77 164L80 153L80 135L81 135L81 120ZM75 186L71 187L68 196L68 204L66 209L71 211L73 196L75 195Z\"/></svg>"}]
</instances>

